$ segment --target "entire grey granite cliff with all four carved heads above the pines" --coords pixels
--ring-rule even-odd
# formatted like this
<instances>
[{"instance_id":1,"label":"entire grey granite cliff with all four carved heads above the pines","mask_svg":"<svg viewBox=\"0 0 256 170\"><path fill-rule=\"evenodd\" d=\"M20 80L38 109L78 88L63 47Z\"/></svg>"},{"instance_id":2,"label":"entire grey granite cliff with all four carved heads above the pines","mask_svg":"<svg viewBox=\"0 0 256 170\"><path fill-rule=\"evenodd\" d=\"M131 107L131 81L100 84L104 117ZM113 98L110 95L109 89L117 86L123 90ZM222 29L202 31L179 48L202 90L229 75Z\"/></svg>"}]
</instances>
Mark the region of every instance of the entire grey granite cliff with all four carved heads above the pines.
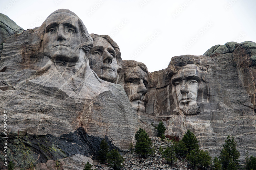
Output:
<instances>
[{"instance_id":1,"label":"entire grey granite cliff with all four carved heads above the pines","mask_svg":"<svg viewBox=\"0 0 256 170\"><path fill-rule=\"evenodd\" d=\"M228 135L238 142L241 159L247 150L256 155L256 43L229 42L203 56L176 56L152 73L143 63L124 60L121 71L118 45L107 35L91 37L67 9L26 31L2 18L4 30L12 31L0 36L0 112L8 124L0 140L8 137L8 161L16 166L83 169L97 158L103 138L110 148L125 150L140 127L156 136L151 123L160 120L168 135L182 137L190 129L211 156ZM111 54L93 56L98 49L116 53L116 63ZM102 80L93 71L97 63L113 63L116 74L106 71ZM4 146L0 142L1 169Z\"/></svg>"}]
</instances>

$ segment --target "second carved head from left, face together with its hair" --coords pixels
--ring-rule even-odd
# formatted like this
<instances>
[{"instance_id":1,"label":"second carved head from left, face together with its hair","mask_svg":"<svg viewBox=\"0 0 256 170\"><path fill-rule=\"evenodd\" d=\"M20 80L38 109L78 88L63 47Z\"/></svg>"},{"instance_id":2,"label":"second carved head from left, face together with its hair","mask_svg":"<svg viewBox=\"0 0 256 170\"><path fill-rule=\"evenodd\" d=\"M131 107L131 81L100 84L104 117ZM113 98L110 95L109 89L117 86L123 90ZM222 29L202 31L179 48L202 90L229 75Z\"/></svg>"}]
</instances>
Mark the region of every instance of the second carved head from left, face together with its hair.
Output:
<instances>
[{"instance_id":1,"label":"second carved head from left, face together with its hair","mask_svg":"<svg viewBox=\"0 0 256 170\"><path fill-rule=\"evenodd\" d=\"M93 47L89 55L91 69L100 79L118 83L122 69L119 46L108 35L90 35L93 38Z\"/></svg>"}]
</instances>

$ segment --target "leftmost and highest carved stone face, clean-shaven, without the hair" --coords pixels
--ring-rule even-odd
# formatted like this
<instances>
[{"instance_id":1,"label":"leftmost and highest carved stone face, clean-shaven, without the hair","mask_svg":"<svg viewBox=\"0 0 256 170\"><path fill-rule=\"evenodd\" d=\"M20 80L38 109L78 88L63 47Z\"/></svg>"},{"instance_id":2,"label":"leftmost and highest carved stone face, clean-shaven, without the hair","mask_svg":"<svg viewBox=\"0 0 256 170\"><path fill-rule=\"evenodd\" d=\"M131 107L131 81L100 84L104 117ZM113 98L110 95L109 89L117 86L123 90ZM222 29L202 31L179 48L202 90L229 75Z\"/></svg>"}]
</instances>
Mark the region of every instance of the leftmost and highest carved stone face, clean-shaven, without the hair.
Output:
<instances>
[{"instance_id":1,"label":"leftmost and highest carved stone face, clean-shaven, without the hair","mask_svg":"<svg viewBox=\"0 0 256 170\"><path fill-rule=\"evenodd\" d=\"M42 41L45 56L62 62L82 61L84 54L80 49L81 41L82 36L76 16L59 12L48 18Z\"/></svg>"}]
</instances>

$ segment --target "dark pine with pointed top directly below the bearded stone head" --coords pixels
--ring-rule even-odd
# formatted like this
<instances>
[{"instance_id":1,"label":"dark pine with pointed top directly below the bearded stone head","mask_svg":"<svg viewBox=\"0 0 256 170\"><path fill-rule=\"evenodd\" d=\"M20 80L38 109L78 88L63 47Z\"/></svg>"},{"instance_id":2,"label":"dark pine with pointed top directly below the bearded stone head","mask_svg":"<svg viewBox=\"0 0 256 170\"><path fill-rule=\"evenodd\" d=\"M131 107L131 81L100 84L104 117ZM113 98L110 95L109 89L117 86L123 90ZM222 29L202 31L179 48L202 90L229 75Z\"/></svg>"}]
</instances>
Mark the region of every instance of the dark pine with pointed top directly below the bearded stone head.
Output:
<instances>
[{"instance_id":1,"label":"dark pine with pointed top directly below the bearded stone head","mask_svg":"<svg viewBox=\"0 0 256 170\"><path fill-rule=\"evenodd\" d=\"M185 143L186 147L188 148L188 153L199 149L199 145L198 145L198 140L196 139L196 136L194 135L193 132L190 132L190 130L188 130L183 138L182 141Z\"/></svg>"}]
</instances>

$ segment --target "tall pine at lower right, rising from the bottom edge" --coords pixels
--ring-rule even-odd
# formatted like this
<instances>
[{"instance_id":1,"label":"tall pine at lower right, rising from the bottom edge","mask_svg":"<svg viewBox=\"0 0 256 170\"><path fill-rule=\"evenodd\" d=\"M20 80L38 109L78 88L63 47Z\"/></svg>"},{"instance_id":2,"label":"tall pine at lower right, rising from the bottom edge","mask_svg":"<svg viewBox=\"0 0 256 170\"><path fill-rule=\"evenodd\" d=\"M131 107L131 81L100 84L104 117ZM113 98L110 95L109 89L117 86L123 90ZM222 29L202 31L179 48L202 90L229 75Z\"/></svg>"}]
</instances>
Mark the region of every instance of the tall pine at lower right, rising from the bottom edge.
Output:
<instances>
[{"instance_id":1,"label":"tall pine at lower right, rising from the bottom edge","mask_svg":"<svg viewBox=\"0 0 256 170\"><path fill-rule=\"evenodd\" d=\"M220 153L220 162L222 164L223 170L227 170L230 163L232 165L229 168L234 168L233 162L238 164L238 159L240 157L240 152L237 149L237 142L234 140L234 137L228 135L227 140L225 140L225 144L222 145L223 149Z\"/></svg>"}]
</instances>

